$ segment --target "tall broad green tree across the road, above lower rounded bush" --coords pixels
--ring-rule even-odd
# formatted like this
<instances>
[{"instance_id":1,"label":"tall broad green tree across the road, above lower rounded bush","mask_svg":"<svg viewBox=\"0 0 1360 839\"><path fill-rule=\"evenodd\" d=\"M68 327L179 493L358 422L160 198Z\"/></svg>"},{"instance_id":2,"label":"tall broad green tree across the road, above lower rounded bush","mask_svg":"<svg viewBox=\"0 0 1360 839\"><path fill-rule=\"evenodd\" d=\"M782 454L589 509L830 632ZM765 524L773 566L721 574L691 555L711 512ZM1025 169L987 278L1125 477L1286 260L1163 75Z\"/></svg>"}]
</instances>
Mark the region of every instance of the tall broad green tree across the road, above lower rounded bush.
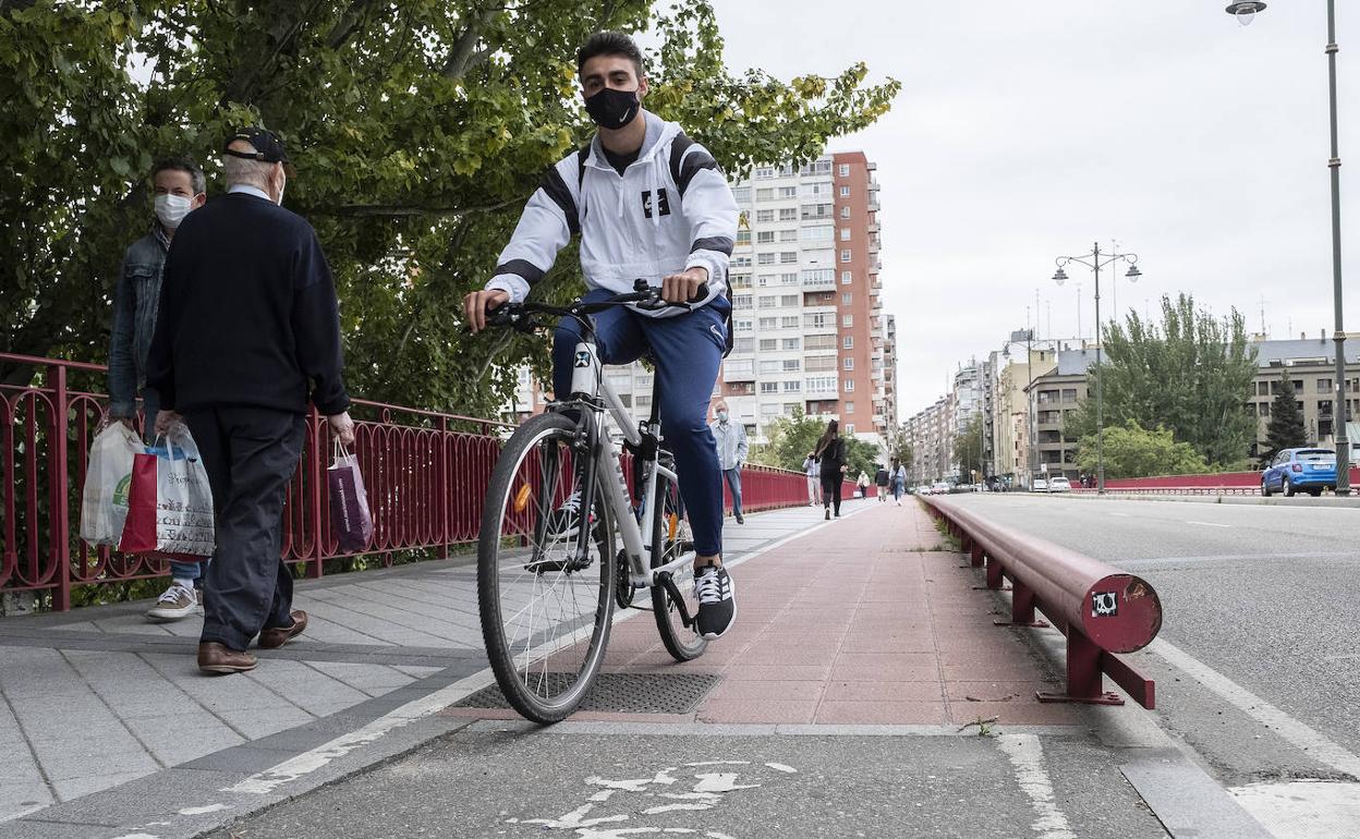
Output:
<instances>
[{"instance_id":1,"label":"tall broad green tree across the road, above lower rounded bush","mask_svg":"<svg viewBox=\"0 0 1360 839\"><path fill-rule=\"evenodd\" d=\"M1246 412L1257 374L1255 349L1247 345L1242 314L1214 318L1197 309L1194 298L1161 298L1161 322L1130 310L1125 324L1102 329L1106 428L1129 420L1144 428L1166 428L1220 468L1242 464L1257 436ZM1095 377L1088 371L1091 398L1069 420L1068 432L1095 434ZM1106 469L1108 475L1108 469Z\"/></svg>"}]
</instances>

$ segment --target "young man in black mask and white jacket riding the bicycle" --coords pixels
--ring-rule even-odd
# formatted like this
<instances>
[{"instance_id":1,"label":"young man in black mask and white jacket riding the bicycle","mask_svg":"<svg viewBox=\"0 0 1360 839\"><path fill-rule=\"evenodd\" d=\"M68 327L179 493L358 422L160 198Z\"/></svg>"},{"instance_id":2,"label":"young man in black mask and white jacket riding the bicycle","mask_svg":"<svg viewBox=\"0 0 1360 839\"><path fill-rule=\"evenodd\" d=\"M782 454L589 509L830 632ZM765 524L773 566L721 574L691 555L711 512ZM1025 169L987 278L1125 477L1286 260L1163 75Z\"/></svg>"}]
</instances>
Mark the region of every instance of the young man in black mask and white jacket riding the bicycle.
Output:
<instances>
[{"instance_id":1,"label":"young man in black mask and white jacket riding the bicycle","mask_svg":"<svg viewBox=\"0 0 1360 839\"><path fill-rule=\"evenodd\" d=\"M718 638L736 617L732 578L722 567L722 473L709 401L728 341L728 258L737 204L713 155L680 126L646 112L642 53L619 33L593 35L577 54L586 112L600 131L586 150L548 170L525 205L486 290L464 298L469 329L487 311L521 302L581 234L585 302L634 291L643 277L670 303L688 309L611 309L596 315L601 363L627 364L650 352L660 386L661 424L675 454L695 545L698 631ZM707 294L703 294L706 290ZM556 398L571 393L581 326L558 324L552 345Z\"/></svg>"}]
</instances>

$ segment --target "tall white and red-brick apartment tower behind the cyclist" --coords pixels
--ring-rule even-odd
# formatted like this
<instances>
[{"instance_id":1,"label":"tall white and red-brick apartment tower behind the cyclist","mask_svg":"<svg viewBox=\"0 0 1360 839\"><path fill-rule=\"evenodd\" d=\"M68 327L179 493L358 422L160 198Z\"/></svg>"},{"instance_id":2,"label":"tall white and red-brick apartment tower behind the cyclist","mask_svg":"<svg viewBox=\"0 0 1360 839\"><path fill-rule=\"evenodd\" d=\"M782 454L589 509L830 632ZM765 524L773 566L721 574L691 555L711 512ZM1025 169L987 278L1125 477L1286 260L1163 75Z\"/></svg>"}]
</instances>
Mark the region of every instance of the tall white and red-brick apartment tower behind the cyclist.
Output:
<instances>
[{"instance_id":1,"label":"tall white and red-brick apartment tower behind the cyclist","mask_svg":"<svg viewBox=\"0 0 1360 839\"><path fill-rule=\"evenodd\" d=\"M885 445L896 419L896 324L883 315L879 185L862 152L759 167L729 272L736 341L722 396L755 442L802 409ZM891 337L889 337L891 326Z\"/></svg>"}]
</instances>

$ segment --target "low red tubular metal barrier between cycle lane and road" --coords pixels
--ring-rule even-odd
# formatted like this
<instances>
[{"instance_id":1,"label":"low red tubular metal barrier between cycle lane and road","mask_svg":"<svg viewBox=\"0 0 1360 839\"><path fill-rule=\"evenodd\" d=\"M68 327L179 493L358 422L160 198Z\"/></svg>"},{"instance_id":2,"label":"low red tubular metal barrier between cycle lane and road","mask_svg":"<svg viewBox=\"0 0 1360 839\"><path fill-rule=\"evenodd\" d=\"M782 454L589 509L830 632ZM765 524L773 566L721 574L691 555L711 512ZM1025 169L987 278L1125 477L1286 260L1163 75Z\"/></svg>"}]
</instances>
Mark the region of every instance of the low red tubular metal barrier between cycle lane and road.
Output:
<instances>
[{"instance_id":1,"label":"low red tubular metal barrier between cycle lane and road","mask_svg":"<svg viewBox=\"0 0 1360 839\"><path fill-rule=\"evenodd\" d=\"M1161 628L1161 601L1144 579L1103 562L997 525L944 498L922 499L968 551L974 567L986 563L987 587L1012 583L1009 626L1047 626L1035 609L1068 638L1068 689L1039 692L1040 702L1123 704L1103 689L1110 676L1145 708L1156 704L1156 685L1115 653L1152 643ZM998 621L1002 623L1002 621Z\"/></svg>"}]
</instances>

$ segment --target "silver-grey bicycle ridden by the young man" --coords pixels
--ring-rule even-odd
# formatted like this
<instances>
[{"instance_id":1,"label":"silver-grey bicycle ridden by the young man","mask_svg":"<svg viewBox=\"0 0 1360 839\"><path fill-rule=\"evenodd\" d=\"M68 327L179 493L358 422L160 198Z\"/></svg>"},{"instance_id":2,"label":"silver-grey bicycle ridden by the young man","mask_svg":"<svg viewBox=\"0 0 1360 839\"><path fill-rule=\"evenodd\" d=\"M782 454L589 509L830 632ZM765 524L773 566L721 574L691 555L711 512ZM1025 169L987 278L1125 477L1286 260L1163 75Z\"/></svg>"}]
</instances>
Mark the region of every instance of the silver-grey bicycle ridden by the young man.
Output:
<instances>
[{"instance_id":1,"label":"silver-grey bicycle ridden by the young man","mask_svg":"<svg viewBox=\"0 0 1360 839\"><path fill-rule=\"evenodd\" d=\"M615 608L636 608L651 592L657 630L676 661L703 654L688 574L694 541L675 461L662 447L660 379L651 412L634 424L602 375L593 314L613 306L688 307L661 301L638 280L631 294L564 307L505 303L488 326L532 333L571 317L582 326L570 398L521 424L491 472L477 544L477 605L487 657L500 692L539 723L568 717L590 692L604 662ZM699 298L707 292L699 288ZM632 453L636 503L620 453L604 432L609 413ZM649 534L649 538L643 538ZM622 547L615 551L615 544Z\"/></svg>"}]
</instances>

